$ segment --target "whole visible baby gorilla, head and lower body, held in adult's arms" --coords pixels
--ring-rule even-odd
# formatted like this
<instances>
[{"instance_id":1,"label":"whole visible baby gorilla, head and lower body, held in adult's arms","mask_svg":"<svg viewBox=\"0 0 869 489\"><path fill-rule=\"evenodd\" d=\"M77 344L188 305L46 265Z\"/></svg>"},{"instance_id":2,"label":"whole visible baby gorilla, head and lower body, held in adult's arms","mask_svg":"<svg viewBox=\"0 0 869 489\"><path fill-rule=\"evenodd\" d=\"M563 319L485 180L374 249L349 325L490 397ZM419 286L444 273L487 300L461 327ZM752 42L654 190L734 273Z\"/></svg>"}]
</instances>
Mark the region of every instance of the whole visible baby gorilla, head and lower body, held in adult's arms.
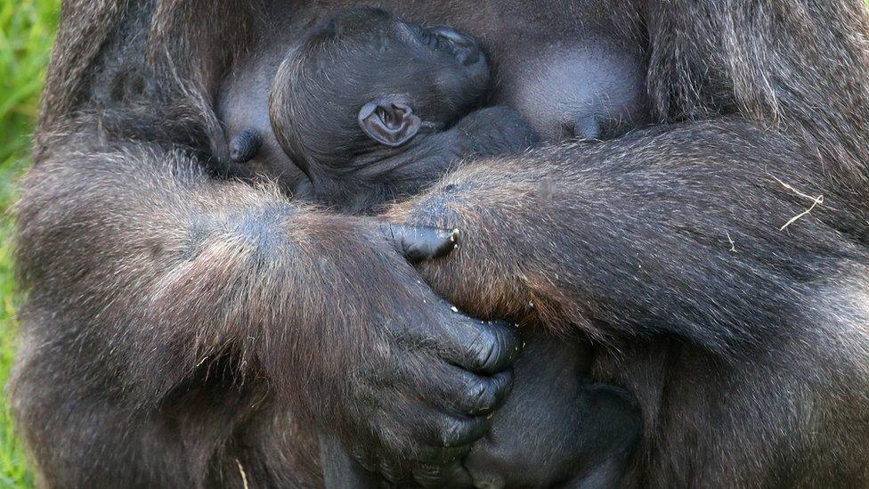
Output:
<instances>
[{"instance_id":1,"label":"whole visible baby gorilla, head and lower body, held in adult's arms","mask_svg":"<svg viewBox=\"0 0 869 489\"><path fill-rule=\"evenodd\" d=\"M288 53L272 85L274 134L310 180L296 194L371 212L434 183L463 157L524 151L537 137L515 110L477 109L489 84L475 39L454 29L404 23L375 9L338 15ZM256 144L245 132L231 146L243 160ZM482 463L482 474L499 467L520 485L618 485L642 427L635 403L621 389L577 380L590 351L553 363L547 348L568 350L534 346L527 354L535 358L523 363L533 382L520 370L507 409L493 421L492 434L512 440L510 450L481 444L469 461ZM533 433L517 422L528 409L539 411ZM365 485L340 444L323 447L328 485ZM498 475L483 477L483 485L500 485Z\"/></svg>"}]
</instances>

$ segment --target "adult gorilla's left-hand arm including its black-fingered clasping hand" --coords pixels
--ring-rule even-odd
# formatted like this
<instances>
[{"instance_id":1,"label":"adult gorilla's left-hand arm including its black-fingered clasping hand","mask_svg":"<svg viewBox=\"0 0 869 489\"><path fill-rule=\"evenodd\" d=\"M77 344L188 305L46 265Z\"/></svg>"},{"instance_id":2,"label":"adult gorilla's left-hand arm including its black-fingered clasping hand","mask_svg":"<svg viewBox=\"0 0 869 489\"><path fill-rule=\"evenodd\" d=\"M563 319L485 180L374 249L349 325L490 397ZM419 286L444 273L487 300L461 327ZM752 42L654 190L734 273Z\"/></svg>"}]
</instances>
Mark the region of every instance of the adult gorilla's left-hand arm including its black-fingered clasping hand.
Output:
<instances>
[{"instance_id":1,"label":"adult gorilla's left-hand arm including its black-fingered clasping hand","mask_svg":"<svg viewBox=\"0 0 869 489\"><path fill-rule=\"evenodd\" d=\"M385 239L407 244L408 230L216 182L182 151L77 134L53 136L21 196L24 329L51 347L22 359L19 412L67 420L27 420L32 446L53 446L53 428L85 415L38 407L45 395L69 388L60 402L74 403L82 389L103 386L118 409L156 412L196 371L227 358L237 367L231 381L264 382L270 399L383 463L397 452L452 460L483 435L484 415L508 392L515 335L455 314L419 282ZM52 393L29 390L43 385L29 376L61 379L65 369L80 387L56 380ZM232 427L223 428L228 436ZM191 436L195 444L202 434ZM84 445L45 453L90 456ZM73 477L51 467L71 460L38 461ZM100 470L123 467L104 460Z\"/></svg>"}]
</instances>

